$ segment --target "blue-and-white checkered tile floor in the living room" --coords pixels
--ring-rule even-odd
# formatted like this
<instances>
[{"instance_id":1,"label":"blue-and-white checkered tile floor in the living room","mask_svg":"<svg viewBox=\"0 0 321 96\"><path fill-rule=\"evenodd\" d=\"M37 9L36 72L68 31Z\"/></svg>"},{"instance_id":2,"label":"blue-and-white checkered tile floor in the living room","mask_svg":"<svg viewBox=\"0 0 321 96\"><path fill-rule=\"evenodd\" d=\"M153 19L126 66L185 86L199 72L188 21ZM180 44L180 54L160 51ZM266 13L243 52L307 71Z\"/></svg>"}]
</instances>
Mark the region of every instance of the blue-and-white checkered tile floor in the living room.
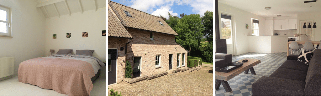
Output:
<instances>
[{"instance_id":1,"label":"blue-and-white checkered tile floor in the living room","mask_svg":"<svg viewBox=\"0 0 321 96\"><path fill-rule=\"evenodd\" d=\"M286 52L281 53L253 53L248 52L242 55L232 57L232 61L238 61L246 58L259 59L260 64L254 66L256 75L252 75L249 71L248 74L241 73L238 76L230 79L228 83L233 92L227 93L221 84L220 88L215 91L216 96L223 95L252 95L252 84L262 76L270 76L277 68L286 60ZM216 80L215 82L216 83Z\"/></svg>"}]
</instances>

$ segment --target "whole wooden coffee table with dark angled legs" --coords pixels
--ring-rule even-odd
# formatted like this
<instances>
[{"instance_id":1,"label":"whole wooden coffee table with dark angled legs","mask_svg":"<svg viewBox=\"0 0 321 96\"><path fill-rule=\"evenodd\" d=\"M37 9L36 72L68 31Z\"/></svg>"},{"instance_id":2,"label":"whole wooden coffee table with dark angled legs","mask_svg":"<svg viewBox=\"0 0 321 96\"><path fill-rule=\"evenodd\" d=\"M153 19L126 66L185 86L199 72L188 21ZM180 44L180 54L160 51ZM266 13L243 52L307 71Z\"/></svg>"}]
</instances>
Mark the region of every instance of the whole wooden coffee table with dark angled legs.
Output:
<instances>
[{"instance_id":1,"label":"whole wooden coffee table with dark angled legs","mask_svg":"<svg viewBox=\"0 0 321 96\"><path fill-rule=\"evenodd\" d=\"M246 60L246 59L243 59L243 60ZM228 80L234 78L235 76L241 74L242 72L244 72L244 74L247 74L249 70L251 70L252 75L256 75L253 66L261 63L261 60L256 60L256 59L247 59L247 60L248 60L247 62L243 63L243 66L236 68L228 73L215 71L215 79L217 79L215 84L216 90L218 90L220 85L222 84L225 91L231 93L232 89L229 83L227 82ZM239 62L242 62L242 60L239 60Z\"/></svg>"}]
</instances>

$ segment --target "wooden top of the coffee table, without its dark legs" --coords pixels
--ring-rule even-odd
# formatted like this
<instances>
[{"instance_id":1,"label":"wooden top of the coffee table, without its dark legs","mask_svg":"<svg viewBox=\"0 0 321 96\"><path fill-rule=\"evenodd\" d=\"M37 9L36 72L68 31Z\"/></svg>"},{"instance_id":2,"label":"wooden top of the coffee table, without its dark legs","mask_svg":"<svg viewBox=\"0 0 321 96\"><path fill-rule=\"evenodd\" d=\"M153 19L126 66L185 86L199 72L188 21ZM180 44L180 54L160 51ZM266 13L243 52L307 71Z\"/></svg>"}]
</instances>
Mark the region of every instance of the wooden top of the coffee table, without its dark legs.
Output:
<instances>
[{"instance_id":1,"label":"wooden top of the coffee table, without its dark legs","mask_svg":"<svg viewBox=\"0 0 321 96\"><path fill-rule=\"evenodd\" d=\"M242 60L246 60L246 59L242 59ZM242 62L242 60L239 60L239 62ZM215 71L215 79L228 81L228 80L234 78L235 76L241 74L245 70L261 63L261 60L256 60L256 59L247 59L247 60L248 61L244 62L241 67L236 68L228 73Z\"/></svg>"}]
</instances>

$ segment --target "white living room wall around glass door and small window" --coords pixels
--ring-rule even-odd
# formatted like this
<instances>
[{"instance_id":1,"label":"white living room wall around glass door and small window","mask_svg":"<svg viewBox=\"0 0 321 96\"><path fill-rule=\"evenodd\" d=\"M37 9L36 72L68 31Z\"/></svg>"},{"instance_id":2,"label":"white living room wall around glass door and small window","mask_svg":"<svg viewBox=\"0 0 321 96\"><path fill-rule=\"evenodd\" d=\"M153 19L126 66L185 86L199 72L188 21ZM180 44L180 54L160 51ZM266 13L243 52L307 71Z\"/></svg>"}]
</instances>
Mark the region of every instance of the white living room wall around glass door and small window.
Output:
<instances>
[{"instance_id":1,"label":"white living room wall around glass door and small window","mask_svg":"<svg viewBox=\"0 0 321 96\"><path fill-rule=\"evenodd\" d=\"M262 16L258 16L256 14L226 5L222 3L218 3L218 11L219 11L219 21L221 22L221 13L232 15L232 20L234 20L234 34L236 34L236 55L240 55L248 52L248 41L247 36L252 35L252 20L259 20L259 36L265 35L265 18ZM245 29L244 24L249 24L249 28ZM220 23L221 27L221 23ZM220 29L221 31L221 29ZM221 36L221 32L220 32Z\"/></svg>"}]
</instances>

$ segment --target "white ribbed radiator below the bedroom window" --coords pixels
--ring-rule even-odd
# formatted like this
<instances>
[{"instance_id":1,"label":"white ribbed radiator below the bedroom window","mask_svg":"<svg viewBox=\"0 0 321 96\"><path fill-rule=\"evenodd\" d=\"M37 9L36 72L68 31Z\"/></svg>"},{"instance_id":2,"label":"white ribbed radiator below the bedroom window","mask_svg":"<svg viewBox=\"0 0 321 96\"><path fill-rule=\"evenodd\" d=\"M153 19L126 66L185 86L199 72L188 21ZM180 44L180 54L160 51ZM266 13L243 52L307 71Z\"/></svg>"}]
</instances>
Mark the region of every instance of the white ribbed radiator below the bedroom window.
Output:
<instances>
[{"instance_id":1,"label":"white ribbed radiator below the bedroom window","mask_svg":"<svg viewBox=\"0 0 321 96\"><path fill-rule=\"evenodd\" d=\"M0 78L13 75L13 57L0 58Z\"/></svg>"}]
</instances>

